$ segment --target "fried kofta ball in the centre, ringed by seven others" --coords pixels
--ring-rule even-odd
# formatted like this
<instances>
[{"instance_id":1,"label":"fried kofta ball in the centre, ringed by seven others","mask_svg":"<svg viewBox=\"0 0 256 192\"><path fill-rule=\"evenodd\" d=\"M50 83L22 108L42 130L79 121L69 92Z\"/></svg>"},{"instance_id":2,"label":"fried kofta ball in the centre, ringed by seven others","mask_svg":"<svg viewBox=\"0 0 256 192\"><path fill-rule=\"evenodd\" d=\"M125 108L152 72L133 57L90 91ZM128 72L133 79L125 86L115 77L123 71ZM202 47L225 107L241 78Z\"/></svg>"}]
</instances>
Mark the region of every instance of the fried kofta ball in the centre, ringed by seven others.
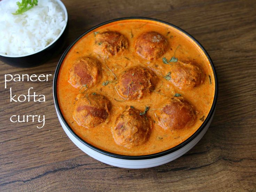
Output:
<instances>
[{"instance_id":1,"label":"fried kofta ball in the centre, ringed by seven others","mask_svg":"<svg viewBox=\"0 0 256 192\"><path fill-rule=\"evenodd\" d=\"M158 81L156 74L147 68L133 67L125 71L118 78L116 85L119 95L123 98L135 100L155 89Z\"/></svg>"}]
</instances>

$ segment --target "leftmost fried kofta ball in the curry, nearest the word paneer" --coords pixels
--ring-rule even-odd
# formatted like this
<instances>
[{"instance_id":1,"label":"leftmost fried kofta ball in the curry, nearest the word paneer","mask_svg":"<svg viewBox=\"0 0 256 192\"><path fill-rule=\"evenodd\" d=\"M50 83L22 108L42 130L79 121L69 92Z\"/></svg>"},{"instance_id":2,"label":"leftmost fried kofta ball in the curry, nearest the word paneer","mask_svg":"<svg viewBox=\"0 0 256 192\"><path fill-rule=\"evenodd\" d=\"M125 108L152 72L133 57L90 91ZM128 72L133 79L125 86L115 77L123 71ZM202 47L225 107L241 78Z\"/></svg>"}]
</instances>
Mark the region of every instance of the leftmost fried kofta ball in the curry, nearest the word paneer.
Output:
<instances>
[{"instance_id":1,"label":"leftmost fried kofta ball in the curry, nearest the word paneer","mask_svg":"<svg viewBox=\"0 0 256 192\"><path fill-rule=\"evenodd\" d=\"M96 83L101 71L101 63L91 57L78 59L69 70L69 83L75 88Z\"/></svg>"}]
</instances>

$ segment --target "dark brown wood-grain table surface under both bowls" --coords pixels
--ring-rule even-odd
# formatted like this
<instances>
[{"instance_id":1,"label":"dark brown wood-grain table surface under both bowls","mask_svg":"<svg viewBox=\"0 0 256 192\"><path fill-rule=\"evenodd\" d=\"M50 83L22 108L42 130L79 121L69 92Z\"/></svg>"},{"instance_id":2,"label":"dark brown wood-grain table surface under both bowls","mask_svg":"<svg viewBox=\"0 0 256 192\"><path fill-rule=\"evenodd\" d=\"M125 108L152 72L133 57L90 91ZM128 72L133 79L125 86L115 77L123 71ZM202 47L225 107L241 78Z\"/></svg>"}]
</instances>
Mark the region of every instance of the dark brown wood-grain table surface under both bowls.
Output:
<instances>
[{"instance_id":1,"label":"dark brown wood-grain table surface under both bowls","mask_svg":"<svg viewBox=\"0 0 256 192\"><path fill-rule=\"evenodd\" d=\"M110 19L144 16L177 25L208 51L219 97L211 126L182 157L148 169L101 163L64 133L48 82L9 82L5 74L54 74L61 54L19 69L0 62L0 191L256 191L256 1L63 0L69 13L64 49L78 35ZM1 40L0 40L1 42ZM46 102L11 102L33 87ZM45 126L11 123L11 115L44 114Z\"/></svg>"}]
</instances>

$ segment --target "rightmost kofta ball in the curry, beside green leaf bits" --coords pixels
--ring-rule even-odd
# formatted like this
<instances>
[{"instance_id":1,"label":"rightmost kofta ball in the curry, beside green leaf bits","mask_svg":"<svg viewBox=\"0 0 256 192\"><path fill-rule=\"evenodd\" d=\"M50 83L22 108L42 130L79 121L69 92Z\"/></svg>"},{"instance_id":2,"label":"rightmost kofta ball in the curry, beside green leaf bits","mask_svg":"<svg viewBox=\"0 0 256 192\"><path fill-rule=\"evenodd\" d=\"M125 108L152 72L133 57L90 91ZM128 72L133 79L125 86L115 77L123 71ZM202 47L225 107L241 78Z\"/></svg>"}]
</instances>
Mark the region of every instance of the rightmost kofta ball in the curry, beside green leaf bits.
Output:
<instances>
[{"instance_id":1,"label":"rightmost kofta ball in the curry, beside green leaf bits","mask_svg":"<svg viewBox=\"0 0 256 192\"><path fill-rule=\"evenodd\" d=\"M201 85L205 75L200 67L192 63L173 64L171 70L171 82L179 89L193 89Z\"/></svg>"}]
</instances>

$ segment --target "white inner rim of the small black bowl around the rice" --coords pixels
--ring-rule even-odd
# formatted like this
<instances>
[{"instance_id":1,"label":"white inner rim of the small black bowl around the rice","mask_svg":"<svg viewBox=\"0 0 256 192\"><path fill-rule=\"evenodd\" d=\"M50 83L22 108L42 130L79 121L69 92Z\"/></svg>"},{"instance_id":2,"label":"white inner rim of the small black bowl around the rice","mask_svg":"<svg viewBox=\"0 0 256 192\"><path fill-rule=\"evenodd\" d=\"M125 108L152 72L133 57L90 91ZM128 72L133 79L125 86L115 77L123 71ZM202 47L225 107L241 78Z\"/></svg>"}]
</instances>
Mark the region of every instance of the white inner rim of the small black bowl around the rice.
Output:
<instances>
[{"instance_id":1,"label":"white inner rim of the small black bowl around the rice","mask_svg":"<svg viewBox=\"0 0 256 192\"><path fill-rule=\"evenodd\" d=\"M0 0L1 1L1 0ZM64 15L65 15L65 22L66 24L63 26L60 34L49 44L47 45L46 47L42 48L42 49L39 49L38 51L36 52L33 52L33 53L28 53L28 54L24 54L24 55L6 55L6 54L1 54L0 53L0 56L3 56L3 57L10 57L10 58L17 58L17 57L27 57L27 56L30 56L30 55L34 55L34 54L37 54L45 49L47 49L48 47L50 47L51 45L53 45L53 43L55 43L60 37L61 35L63 34L63 32L65 31L66 27L67 27L67 24L68 24L68 11L67 11L67 8L66 6L64 5L64 3L61 1L61 0L55 0L59 5L60 7L62 8L62 10L64 11Z\"/></svg>"}]
</instances>

